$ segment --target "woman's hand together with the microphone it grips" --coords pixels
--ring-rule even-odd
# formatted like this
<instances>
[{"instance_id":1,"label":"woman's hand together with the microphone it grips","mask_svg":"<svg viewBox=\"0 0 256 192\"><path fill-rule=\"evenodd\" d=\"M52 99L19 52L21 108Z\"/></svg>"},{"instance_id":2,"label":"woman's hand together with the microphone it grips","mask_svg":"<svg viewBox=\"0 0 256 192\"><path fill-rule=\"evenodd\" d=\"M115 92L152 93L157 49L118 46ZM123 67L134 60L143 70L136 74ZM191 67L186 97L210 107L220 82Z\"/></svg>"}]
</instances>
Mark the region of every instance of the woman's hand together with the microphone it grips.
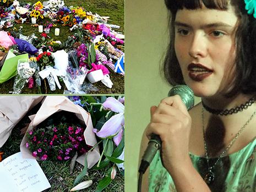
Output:
<instances>
[{"instance_id":1,"label":"woman's hand together with the microphone it grips","mask_svg":"<svg viewBox=\"0 0 256 192\"><path fill-rule=\"evenodd\" d=\"M168 169L188 156L191 119L187 112L194 105L193 91L186 85L173 87L159 106L151 107L151 121L146 135L151 138L141 160L139 172L144 173L161 147L164 166Z\"/></svg>"}]
</instances>

